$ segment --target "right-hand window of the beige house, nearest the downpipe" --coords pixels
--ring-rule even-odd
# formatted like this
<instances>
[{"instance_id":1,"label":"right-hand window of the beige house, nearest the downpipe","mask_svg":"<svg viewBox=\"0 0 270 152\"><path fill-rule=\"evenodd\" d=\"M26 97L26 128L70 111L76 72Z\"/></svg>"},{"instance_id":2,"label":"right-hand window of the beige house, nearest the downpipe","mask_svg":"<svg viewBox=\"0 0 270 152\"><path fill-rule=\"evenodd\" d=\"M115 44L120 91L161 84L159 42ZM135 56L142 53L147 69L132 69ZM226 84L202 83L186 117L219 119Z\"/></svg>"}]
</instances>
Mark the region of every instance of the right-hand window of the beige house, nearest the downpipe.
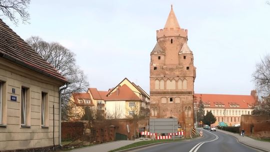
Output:
<instances>
[{"instance_id":1,"label":"right-hand window of the beige house, nearest the downpipe","mask_svg":"<svg viewBox=\"0 0 270 152\"><path fill-rule=\"evenodd\" d=\"M48 97L47 93L41 92L41 125L46 125L48 117Z\"/></svg>"}]
</instances>

